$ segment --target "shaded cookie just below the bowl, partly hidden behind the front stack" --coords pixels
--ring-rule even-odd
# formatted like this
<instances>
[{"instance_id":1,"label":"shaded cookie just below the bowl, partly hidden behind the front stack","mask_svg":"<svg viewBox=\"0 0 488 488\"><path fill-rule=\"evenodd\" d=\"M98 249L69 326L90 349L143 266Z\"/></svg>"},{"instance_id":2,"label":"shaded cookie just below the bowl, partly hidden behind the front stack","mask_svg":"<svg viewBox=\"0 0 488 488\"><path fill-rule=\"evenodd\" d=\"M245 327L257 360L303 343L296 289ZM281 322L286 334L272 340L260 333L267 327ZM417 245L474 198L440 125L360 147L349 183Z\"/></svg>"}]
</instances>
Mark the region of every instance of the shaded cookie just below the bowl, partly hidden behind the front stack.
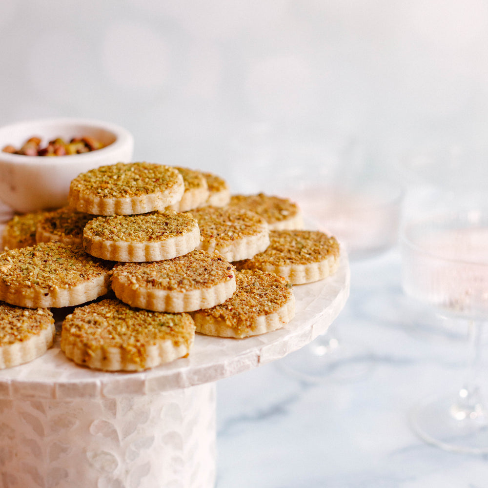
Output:
<instances>
[{"instance_id":1,"label":"shaded cookie just below the bowl, partly hidden behind the front stack","mask_svg":"<svg viewBox=\"0 0 488 488\"><path fill-rule=\"evenodd\" d=\"M36 226L36 242L82 244L83 227L93 217L92 214L79 212L72 207L45 212Z\"/></svg>"}]
</instances>

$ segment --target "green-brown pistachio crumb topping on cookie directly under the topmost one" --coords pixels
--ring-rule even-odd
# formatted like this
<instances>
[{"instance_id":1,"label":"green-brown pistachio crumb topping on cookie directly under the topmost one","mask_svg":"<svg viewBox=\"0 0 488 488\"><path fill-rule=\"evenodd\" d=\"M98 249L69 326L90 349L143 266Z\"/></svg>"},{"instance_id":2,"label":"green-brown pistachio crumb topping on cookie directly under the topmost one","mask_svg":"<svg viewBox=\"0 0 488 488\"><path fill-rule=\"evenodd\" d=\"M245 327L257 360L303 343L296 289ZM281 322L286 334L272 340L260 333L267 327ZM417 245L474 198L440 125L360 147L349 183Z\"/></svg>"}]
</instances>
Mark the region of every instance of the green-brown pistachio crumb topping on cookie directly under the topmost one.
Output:
<instances>
[{"instance_id":1,"label":"green-brown pistachio crumb topping on cookie directly under the topmost one","mask_svg":"<svg viewBox=\"0 0 488 488\"><path fill-rule=\"evenodd\" d=\"M97 217L85 225L84 237L103 241L156 242L177 237L198 226L189 213L149 212Z\"/></svg>"}]
</instances>

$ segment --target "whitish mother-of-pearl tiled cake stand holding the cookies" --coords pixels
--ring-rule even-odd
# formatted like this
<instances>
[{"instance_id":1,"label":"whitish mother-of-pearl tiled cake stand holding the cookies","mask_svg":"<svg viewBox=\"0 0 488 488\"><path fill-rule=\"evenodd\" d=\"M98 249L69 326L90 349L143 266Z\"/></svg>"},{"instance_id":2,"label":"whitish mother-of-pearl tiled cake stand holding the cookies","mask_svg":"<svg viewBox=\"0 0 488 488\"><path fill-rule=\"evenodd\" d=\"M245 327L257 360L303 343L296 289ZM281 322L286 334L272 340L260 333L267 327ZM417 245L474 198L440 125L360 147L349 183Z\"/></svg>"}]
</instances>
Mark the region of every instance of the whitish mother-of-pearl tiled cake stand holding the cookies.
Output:
<instances>
[{"instance_id":1,"label":"whitish mother-of-pearl tiled cake stand holding the cookies","mask_svg":"<svg viewBox=\"0 0 488 488\"><path fill-rule=\"evenodd\" d=\"M197 335L187 358L139 373L75 365L59 341L0 371L0 485L4 488L212 488L216 381L311 342L349 295L349 264L294 287L283 329L244 340Z\"/></svg>"}]
</instances>

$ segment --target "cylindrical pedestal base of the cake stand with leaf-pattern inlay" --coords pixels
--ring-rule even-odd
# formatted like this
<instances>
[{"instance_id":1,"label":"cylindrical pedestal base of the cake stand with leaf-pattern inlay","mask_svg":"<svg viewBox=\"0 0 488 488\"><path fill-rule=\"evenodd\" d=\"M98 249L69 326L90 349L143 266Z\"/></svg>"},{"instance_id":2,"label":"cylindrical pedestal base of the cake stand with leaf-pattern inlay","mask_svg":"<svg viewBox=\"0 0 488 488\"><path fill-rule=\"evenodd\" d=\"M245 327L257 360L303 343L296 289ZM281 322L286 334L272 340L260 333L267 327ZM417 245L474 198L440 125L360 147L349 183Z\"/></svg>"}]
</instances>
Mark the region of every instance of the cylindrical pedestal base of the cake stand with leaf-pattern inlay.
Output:
<instances>
[{"instance_id":1,"label":"cylindrical pedestal base of the cake stand with leaf-pattern inlay","mask_svg":"<svg viewBox=\"0 0 488 488\"><path fill-rule=\"evenodd\" d=\"M215 390L0 399L0 486L214 487Z\"/></svg>"}]
</instances>

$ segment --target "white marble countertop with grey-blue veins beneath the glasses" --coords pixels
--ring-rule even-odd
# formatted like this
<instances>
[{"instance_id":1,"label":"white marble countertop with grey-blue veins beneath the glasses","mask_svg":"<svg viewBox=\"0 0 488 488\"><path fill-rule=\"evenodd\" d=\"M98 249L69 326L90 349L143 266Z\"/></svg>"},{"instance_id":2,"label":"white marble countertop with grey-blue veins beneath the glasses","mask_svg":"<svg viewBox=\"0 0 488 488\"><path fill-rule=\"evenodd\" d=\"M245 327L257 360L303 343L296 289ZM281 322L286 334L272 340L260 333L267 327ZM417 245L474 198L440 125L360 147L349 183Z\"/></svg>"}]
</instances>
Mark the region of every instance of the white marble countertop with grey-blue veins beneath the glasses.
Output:
<instances>
[{"instance_id":1,"label":"white marble countertop with grey-blue veins beneath the glasses","mask_svg":"<svg viewBox=\"0 0 488 488\"><path fill-rule=\"evenodd\" d=\"M328 334L355 355L314 381L290 372L290 355L218 382L216 488L487 487L488 456L427 445L408 421L462 385L465 332L405 297L397 248L352 262Z\"/></svg>"}]
</instances>

